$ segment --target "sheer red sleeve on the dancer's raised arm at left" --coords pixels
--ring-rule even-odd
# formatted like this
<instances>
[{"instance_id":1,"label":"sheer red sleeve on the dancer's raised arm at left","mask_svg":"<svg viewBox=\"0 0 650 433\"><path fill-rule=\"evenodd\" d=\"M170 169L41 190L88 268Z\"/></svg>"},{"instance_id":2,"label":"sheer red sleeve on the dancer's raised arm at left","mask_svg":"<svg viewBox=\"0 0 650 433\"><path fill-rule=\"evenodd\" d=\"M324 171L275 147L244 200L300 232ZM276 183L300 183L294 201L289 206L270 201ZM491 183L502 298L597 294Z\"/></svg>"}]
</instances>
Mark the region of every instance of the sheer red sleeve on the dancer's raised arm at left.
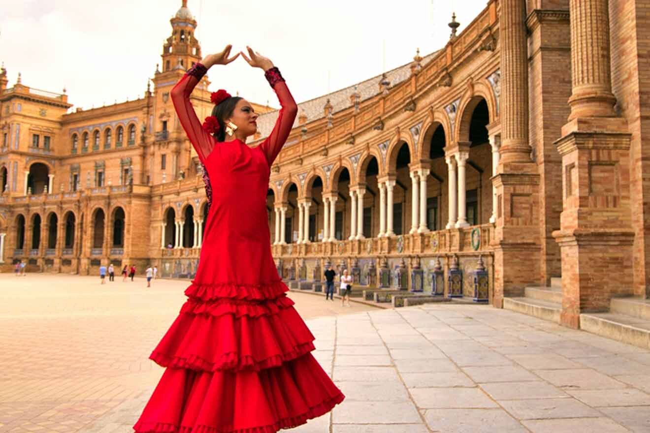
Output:
<instances>
[{"instance_id":1,"label":"sheer red sleeve on the dancer's raised arm at left","mask_svg":"<svg viewBox=\"0 0 650 433\"><path fill-rule=\"evenodd\" d=\"M208 155L214 148L214 137L209 134L201 126L201 121L194 112L194 107L190 103L190 94L194 90L194 86L203 78L207 72L207 68L200 63L187 71L183 78L176 83L172 89L172 102L176 109L178 119L183 125L183 129L187 133L187 138L196 150L201 164L205 161Z\"/></svg>"}]
</instances>

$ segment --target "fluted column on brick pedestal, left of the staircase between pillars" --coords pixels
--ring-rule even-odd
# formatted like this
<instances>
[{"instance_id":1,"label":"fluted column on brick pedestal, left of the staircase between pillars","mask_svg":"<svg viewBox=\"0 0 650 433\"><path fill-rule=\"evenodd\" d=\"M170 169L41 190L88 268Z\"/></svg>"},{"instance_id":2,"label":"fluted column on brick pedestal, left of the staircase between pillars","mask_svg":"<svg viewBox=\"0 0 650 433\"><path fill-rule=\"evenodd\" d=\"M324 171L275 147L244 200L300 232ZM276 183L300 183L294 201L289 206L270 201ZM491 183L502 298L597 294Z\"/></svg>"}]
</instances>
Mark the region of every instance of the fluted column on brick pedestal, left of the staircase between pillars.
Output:
<instances>
[{"instance_id":1,"label":"fluted column on brick pedestal, left of the staircase between pillars","mask_svg":"<svg viewBox=\"0 0 650 433\"><path fill-rule=\"evenodd\" d=\"M502 0L501 147L497 174L495 275L492 302L501 308L504 296L523 294L539 284L539 174L528 142L528 40L524 0Z\"/></svg>"}]
</instances>

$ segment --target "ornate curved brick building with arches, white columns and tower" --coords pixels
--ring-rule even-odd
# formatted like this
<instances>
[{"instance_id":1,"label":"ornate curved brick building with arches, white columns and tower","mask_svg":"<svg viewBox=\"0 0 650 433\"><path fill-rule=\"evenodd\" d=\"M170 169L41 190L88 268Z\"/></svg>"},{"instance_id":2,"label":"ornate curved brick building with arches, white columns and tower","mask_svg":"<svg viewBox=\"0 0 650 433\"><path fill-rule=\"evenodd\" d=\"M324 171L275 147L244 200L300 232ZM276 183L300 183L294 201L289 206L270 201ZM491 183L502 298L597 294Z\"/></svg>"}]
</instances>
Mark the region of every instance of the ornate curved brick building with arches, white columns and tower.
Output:
<instances>
[{"instance_id":1,"label":"ornate curved brick building with arches, white columns and tower","mask_svg":"<svg viewBox=\"0 0 650 433\"><path fill-rule=\"evenodd\" d=\"M168 100L200 58L183 3L142 99L66 114L66 95L7 88L3 73L5 264L193 275L205 195ZM550 296L571 327L612 297L645 299L649 7L491 0L439 51L300 103L267 197L279 272L306 284L331 262L361 286L510 308L561 277ZM208 84L192 95L200 117Z\"/></svg>"}]
</instances>

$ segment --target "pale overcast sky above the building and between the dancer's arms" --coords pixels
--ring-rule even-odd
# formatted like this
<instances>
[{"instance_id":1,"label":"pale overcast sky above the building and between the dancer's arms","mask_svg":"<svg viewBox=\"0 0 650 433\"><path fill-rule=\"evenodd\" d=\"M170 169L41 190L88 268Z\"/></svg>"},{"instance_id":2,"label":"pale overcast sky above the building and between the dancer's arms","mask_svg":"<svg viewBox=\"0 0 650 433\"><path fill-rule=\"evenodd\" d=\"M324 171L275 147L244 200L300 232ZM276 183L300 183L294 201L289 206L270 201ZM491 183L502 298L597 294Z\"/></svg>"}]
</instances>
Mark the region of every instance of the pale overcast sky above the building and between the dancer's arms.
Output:
<instances>
[{"instance_id":1,"label":"pale overcast sky above the building and between the dancer's arms","mask_svg":"<svg viewBox=\"0 0 650 433\"><path fill-rule=\"evenodd\" d=\"M161 63L181 0L0 0L0 61L11 87L61 93L85 109L142 97ZM270 58L299 103L411 62L459 32L487 0L188 0L202 54L250 45ZM211 90L278 106L259 69L243 59L209 70Z\"/></svg>"}]
</instances>

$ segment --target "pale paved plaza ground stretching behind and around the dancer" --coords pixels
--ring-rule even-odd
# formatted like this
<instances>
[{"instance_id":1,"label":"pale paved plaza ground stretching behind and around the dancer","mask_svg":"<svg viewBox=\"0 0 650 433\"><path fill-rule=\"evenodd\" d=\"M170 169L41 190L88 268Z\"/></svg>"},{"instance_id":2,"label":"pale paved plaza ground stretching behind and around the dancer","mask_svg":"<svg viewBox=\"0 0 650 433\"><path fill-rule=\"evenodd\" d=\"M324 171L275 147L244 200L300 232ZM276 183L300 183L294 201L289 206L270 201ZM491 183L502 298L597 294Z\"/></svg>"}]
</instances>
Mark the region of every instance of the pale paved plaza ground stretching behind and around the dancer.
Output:
<instances>
[{"instance_id":1,"label":"pale paved plaza ground stretching behind and around the dancer","mask_svg":"<svg viewBox=\"0 0 650 433\"><path fill-rule=\"evenodd\" d=\"M187 285L0 274L0 432L132 432ZM650 432L647 350L490 306L290 297L346 394L292 432Z\"/></svg>"}]
</instances>

